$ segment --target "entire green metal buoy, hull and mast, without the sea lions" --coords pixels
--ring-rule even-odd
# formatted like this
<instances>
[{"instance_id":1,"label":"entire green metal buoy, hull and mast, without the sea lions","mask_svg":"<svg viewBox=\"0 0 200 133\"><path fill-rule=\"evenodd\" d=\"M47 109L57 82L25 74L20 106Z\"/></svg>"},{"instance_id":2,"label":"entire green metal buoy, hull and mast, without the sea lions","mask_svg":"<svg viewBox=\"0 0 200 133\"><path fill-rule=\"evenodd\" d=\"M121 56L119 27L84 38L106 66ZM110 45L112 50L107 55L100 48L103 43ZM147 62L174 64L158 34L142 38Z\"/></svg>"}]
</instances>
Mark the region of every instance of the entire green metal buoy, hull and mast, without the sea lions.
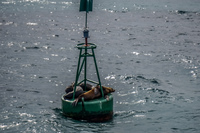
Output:
<instances>
[{"instance_id":1,"label":"entire green metal buoy, hull and mast, without the sea lions","mask_svg":"<svg viewBox=\"0 0 200 133\"><path fill-rule=\"evenodd\" d=\"M104 98L103 88L101 85L101 80L94 53L94 49L96 49L97 46L93 43L88 43L87 40L89 38L89 30L87 28L87 13L89 11L92 11L92 4L93 4L92 0L80 0L80 11L86 11L85 29L83 31L85 43L80 43L76 45L76 48L80 50L80 54L76 71L76 79L73 86L74 87L73 97L72 99L66 100L64 99L64 95L62 95L61 97L62 112L65 116L77 120L103 122L103 121L108 121L113 117L113 96L111 94L108 94L109 100ZM87 79L87 58L89 57L92 57L94 60L94 65L98 78L97 82ZM79 76L83 68L84 68L84 79L79 82ZM76 106L72 106L72 103L75 100L75 93L77 86L79 86L81 83L84 83L83 88L86 91L87 82L99 85L102 97L89 101L84 101L84 98L82 98L82 102L78 102Z\"/></svg>"}]
</instances>

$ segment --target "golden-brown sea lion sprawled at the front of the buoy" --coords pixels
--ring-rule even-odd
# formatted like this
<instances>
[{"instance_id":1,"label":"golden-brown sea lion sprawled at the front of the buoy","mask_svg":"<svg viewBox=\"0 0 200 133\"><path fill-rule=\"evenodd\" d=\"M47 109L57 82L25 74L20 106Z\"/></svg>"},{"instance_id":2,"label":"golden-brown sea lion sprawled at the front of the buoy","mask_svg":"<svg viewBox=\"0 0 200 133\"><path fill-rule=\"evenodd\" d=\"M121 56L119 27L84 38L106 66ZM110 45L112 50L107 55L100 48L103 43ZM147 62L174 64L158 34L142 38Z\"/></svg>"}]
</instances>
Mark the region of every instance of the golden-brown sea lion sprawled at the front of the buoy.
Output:
<instances>
[{"instance_id":1,"label":"golden-brown sea lion sprawled at the front of the buoy","mask_svg":"<svg viewBox=\"0 0 200 133\"><path fill-rule=\"evenodd\" d=\"M113 88L110 88L110 87L102 86L102 89L103 89L103 94L104 94L104 96L107 100L109 100L108 94L115 92L115 90ZM87 101L87 100L99 98L101 96L102 96L102 94L101 94L100 86L97 85L96 87L93 87L91 90L79 95L78 98L76 98L73 101L72 106L76 106L77 103L79 102L79 100L82 100L82 98L84 98L84 100Z\"/></svg>"}]
</instances>

